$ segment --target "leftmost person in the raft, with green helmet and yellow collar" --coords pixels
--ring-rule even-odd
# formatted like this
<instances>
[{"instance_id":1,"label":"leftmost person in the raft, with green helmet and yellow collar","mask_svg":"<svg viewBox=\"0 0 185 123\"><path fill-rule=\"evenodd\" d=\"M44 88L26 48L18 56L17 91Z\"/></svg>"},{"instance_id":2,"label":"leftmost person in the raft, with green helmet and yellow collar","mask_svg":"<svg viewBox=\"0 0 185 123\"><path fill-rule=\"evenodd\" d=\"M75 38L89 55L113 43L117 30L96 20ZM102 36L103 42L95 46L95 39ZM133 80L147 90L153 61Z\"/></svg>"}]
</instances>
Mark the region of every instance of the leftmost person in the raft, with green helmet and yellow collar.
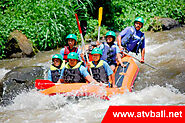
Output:
<instances>
[{"instance_id":1,"label":"leftmost person in the raft, with green helmet and yellow collar","mask_svg":"<svg viewBox=\"0 0 185 123\"><path fill-rule=\"evenodd\" d=\"M65 61L60 54L55 54L52 57L52 64L48 71L48 80L56 83L61 75L62 68L65 66Z\"/></svg>"}]
</instances>

